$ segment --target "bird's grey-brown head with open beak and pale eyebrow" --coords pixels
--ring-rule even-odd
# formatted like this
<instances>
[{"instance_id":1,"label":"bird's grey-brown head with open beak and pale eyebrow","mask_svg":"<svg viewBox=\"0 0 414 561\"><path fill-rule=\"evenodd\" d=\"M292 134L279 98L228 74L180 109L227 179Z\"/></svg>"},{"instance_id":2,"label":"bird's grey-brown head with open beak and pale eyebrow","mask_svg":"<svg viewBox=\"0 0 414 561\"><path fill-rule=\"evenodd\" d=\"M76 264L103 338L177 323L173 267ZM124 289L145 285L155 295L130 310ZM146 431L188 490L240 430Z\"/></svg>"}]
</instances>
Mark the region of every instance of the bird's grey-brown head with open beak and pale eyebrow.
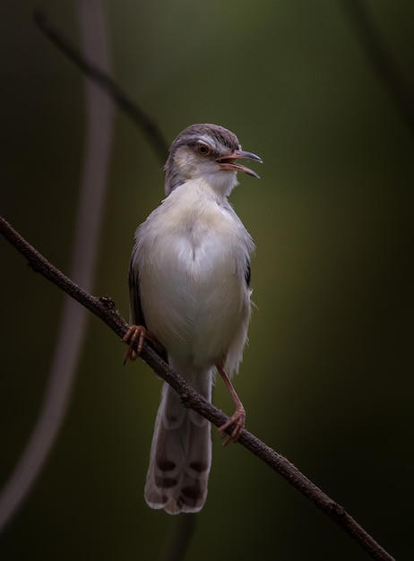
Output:
<instances>
[{"instance_id":1,"label":"bird's grey-brown head with open beak and pale eyebrow","mask_svg":"<svg viewBox=\"0 0 414 561\"><path fill-rule=\"evenodd\" d=\"M229 195L237 185L237 172L259 177L238 163L241 158L262 160L241 149L236 134L220 125L191 125L178 134L165 165L165 193L186 181L200 179L220 194Z\"/></svg>"}]
</instances>

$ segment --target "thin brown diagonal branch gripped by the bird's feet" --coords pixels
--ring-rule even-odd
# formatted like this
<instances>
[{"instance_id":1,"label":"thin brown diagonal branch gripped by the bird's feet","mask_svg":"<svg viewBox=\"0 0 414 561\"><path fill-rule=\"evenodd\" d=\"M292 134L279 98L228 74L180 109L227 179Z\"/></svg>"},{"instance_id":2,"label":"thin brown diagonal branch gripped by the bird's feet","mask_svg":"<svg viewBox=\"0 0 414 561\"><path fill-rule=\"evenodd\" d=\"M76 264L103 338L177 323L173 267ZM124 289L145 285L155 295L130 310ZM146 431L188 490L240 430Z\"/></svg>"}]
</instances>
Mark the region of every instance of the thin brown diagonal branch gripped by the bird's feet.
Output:
<instances>
[{"instance_id":1,"label":"thin brown diagonal branch gripped by the bird's feet","mask_svg":"<svg viewBox=\"0 0 414 561\"><path fill-rule=\"evenodd\" d=\"M118 337L123 337L125 335L128 324L126 324L125 320L116 312L109 298L92 297L88 292L77 287L72 280L65 277L54 265L48 263L47 259L30 246L30 244L2 217L0 217L0 234L6 237L6 239L29 260L31 267L35 271L41 273L47 280L54 282L60 289L65 290L67 294L80 302L82 306L87 307L93 314L98 315L100 319L116 332ZM185 407L197 411L216 427L220 427L229 420L222 411L218 410L212 403L206 401L203 396L195 392L191 385L187 384L182 376L177 375L177 373L175 373L156 352L151 350L147 344L144 344L141 356L157 375L176 390ZM231 427L229 427L227 432L231 432ZM373 559L378 561L395 561L393 557L346 512L343 506L333 501L332 498L323 493L320 488L317 488L310 479L307 479L306 476L284 456L272 450L272 448L246 430L242 432L238 443L254 453L254 455L270 466L272 470L277 471L292 487L306 496L317 508L336 522L343 531L346 531Z\"/></svg>"}]
</instances>

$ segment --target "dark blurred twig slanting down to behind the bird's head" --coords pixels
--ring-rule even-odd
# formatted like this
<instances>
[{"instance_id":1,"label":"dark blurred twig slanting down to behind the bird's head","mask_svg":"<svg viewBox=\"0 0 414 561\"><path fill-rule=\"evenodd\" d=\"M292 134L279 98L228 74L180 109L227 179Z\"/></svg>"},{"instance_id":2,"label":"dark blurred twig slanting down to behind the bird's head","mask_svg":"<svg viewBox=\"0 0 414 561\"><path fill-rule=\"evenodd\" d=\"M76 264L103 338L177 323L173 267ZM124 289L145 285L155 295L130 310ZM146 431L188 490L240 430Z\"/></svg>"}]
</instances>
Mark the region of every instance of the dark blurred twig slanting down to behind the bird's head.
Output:
<instances>
[{"instance_id":1,"label":"dark blurred twig slanting down to behind the bird's head","mask_svg":"<svg viewBox=\"0 0 414 561\"><path fill-rule=\"evenodd\" d=\"M110 99L116 103L116 106L124 111L125 115L131 119L147 137L152 149L158 155L160 162L164 165L168 158L168 142L161 133L160 127L146 115L132 99L130 99L125 91L123 91L110 75L97 67L95 61L89 56L83 56L82 53L68 40L64 35L56 29L48 20L45 13L37 11L34 13L34 22L39 30L49 39L55 47L65 54L72 62L78 66L82 73L88 78L96 82L102 91L105 91Z\"/></svg>"}]
</instances>

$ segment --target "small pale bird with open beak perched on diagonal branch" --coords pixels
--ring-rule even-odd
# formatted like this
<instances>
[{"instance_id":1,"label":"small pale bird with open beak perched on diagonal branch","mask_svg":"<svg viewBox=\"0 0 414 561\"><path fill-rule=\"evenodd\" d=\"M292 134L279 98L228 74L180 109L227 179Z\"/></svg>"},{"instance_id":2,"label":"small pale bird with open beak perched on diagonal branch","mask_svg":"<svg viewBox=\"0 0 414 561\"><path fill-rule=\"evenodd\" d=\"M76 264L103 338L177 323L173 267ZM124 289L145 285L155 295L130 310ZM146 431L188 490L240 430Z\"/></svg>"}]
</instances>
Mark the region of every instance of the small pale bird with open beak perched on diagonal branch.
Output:
<instances>
[{"instance_id":1,"label":"small pale bird with open beak perched on diagonal branch","mask_svg":"<svg viewBox=\"0 0 414 561\"><path fill-rule=\"evenodd\" d=\"M241 158L262 162L219 125L188 126L172 143L164 168L166 198L135 232L132 325L124 338L125 359L135 359L143 339L150 339L208 401L220 373L236 405L219 429L224 437L232 427L225 444L237 440L246 420L229 375L238 369L247 338L254 243L228 196L237 172L259 176L238 163ZM210 422L185 409L164 383L144 491L148 505L168 514L200 511L210 467Z\"/></svg>"}]
</instances>

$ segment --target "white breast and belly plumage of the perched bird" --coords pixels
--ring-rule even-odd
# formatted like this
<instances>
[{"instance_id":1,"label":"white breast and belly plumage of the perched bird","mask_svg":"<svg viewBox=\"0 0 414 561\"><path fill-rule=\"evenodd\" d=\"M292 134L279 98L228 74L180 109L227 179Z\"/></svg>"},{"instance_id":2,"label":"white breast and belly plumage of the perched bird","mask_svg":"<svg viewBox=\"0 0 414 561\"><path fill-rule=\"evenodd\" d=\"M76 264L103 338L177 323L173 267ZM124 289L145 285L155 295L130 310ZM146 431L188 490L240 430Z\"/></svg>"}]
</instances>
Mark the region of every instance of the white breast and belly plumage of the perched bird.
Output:
<instances>
[{"instance_id":1,"label":"white breast and belly plumage of the perched bird","mask_svg":"<svg viewBox=\"0 0 414 561\"><path fill-rule=\"evenodd\" d=\"M253 242L227 199L188 182L137 230L134 266L148 329L168 354L237 368L250 317Z\"/></svg>"}]
</instances>

